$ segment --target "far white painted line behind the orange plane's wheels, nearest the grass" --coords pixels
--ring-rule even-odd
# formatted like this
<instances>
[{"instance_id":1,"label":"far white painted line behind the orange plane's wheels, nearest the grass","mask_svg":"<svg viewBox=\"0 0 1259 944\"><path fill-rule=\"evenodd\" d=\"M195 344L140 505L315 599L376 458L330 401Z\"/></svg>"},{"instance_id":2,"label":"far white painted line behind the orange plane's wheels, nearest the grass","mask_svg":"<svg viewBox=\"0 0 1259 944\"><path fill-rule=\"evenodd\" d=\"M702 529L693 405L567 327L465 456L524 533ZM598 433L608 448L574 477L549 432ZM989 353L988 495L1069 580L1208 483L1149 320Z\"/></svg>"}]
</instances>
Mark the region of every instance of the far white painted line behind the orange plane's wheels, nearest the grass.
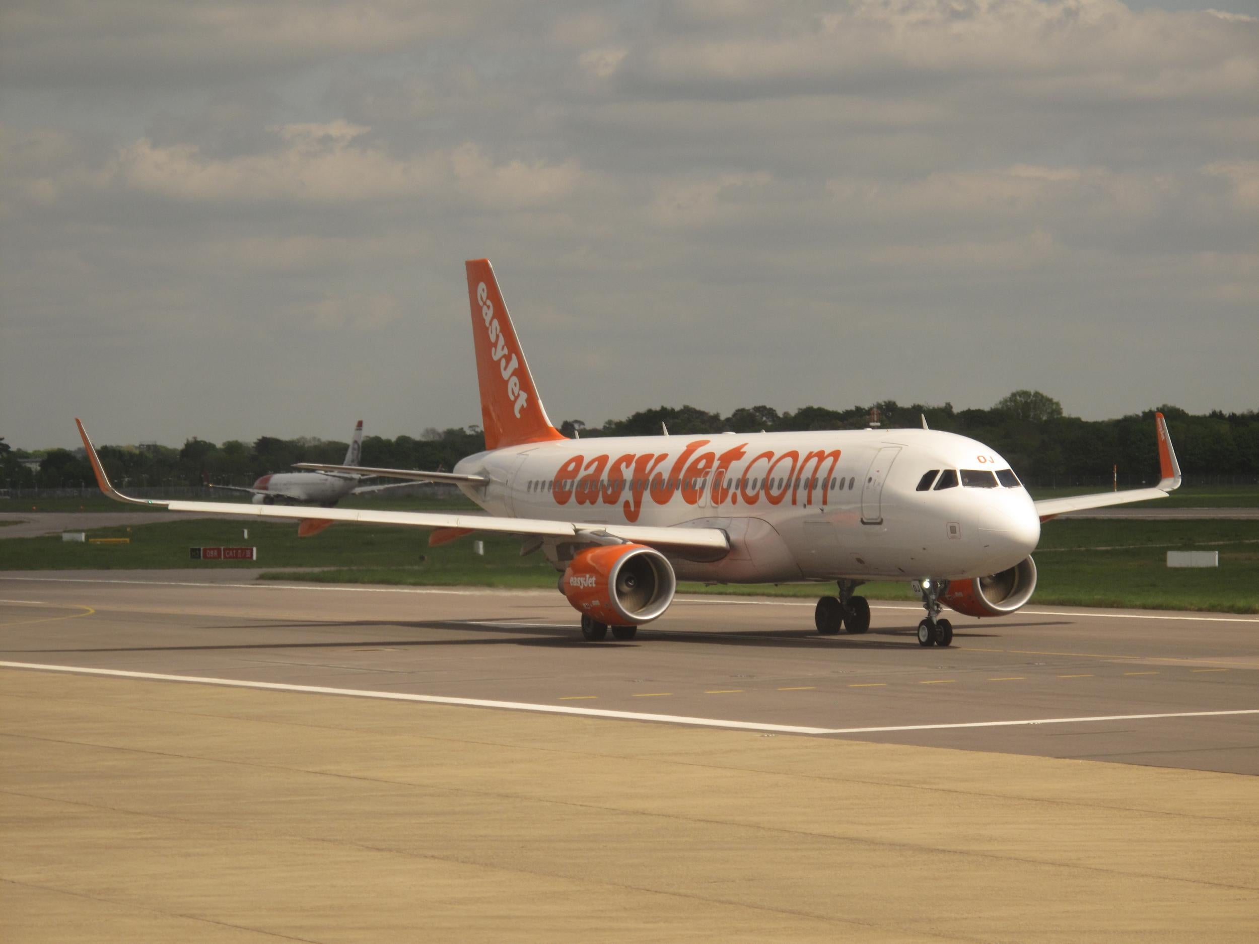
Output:
<instances>
[{"instance_id":1,"label":"far white painted line behind the orange plane's wheels, nearest the grass","mask_svg":"<svg viewBox=\"0 0 1259 944\"><path fill-rule=\"evenodd\" d=\"M223 587L232 590L316 590L324 593L410 593L433 594L444 597L483 597L487 593L520 594L522 597L554 597L551 590L524 590L510 587L346 587L344 584L327 585L316 583L279 584L257 582L248 584L225 584L208 580L117 580L106 578L81 578L81 576L0 576L0 580L25 580L38 583L60 584L132 584L137 587ZM731 607L808 607L815 603L798 603L796 600L734 600L724 597L679 597L674 603L690 604L723 604ZM895 605L888 603L871 603L870 609L896 609L912 613L920 612L920 605ZM1181 615L1153 615L1152 613L1076 613L1061 609L1020 609L1019 613L1029 617L1095 617L1098 619L1170 619L1186 623L1259 623L1259 617L1181 617Z\"/></svg>"}]
</instances>

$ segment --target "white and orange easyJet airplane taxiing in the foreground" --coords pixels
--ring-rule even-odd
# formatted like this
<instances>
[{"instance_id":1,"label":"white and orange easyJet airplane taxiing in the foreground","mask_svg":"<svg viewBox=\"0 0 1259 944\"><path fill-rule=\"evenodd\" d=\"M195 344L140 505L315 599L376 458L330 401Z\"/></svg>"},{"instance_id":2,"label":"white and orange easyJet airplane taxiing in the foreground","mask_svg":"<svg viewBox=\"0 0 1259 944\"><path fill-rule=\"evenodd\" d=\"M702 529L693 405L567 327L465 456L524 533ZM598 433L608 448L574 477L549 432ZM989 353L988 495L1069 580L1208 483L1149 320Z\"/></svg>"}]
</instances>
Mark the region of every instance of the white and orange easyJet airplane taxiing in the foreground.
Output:
<instances>
[{"instance_id":1,"label":"white and orange easyJet airplane taxiing in the foreground","mask_svg":"<svg viewBox=\"0 0 1259 944\"><path fill-rule=\"evenodd\" d=\"M101 490L171 511L434 529L429 544L472 531L525 536L562 571L560 592L587 639L632 639L662 615L679 579L835 582L817 602L823 634L870 627L867 580L910 580L923 599L923 646L948 646L948 607L1013 613L1036 588L1040 522L1066 511L1166 497L1181 482L1162 414L1153 488L1032 501L1010 463L981 442L930 429L568 439L551 425L487 259L467 263L485 452L453 472L305 464L324 472L453 482L485 515L128 498L110 485L83 424Z\"/></svg>"}]
</instances>

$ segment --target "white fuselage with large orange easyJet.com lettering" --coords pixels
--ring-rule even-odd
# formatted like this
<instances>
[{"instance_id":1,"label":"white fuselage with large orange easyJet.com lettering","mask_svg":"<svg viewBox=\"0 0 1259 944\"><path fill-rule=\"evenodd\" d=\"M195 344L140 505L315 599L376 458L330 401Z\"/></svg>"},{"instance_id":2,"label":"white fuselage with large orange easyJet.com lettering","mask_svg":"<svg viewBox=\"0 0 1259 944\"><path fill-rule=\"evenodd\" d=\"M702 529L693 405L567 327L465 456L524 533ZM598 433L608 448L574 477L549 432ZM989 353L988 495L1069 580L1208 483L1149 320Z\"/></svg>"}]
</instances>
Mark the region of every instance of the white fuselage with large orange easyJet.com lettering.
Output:
<instances>
[{"instance_id":1,"label":"white fuselage with large orange easyJet.com lettering","mask_svg":"<svg viewBox=\"0 0 1259 944\"><path fill-rule=\"evenodd\" d=\"M942 475L919 491L932 469ZM720 560L670 559L680 578L728 583L1005 570L1040 539L1008 469L974 439L925 429L565 439L456 467L490 480L461 487L492 515L723 529ZM958 483L937 488L946 471Z\"/></svg>"}]
</instances>

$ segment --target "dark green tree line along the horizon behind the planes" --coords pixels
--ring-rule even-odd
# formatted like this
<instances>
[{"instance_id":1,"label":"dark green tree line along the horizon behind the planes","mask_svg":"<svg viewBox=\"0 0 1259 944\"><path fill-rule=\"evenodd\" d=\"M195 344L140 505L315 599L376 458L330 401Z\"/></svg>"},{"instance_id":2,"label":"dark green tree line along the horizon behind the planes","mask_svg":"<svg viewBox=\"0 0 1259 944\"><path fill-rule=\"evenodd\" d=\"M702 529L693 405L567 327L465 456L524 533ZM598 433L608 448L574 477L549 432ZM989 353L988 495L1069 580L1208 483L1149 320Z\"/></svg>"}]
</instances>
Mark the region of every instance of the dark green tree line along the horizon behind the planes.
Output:
<instances>
[{"instance_id":1,"label":"dark green tree line along the horizon behind the planes","mask_svg":"<svg viewBox=\"0 0 1259 944\"><path fill-rule=\"evenodd\" d=\"M1212 410L1190 414L1177 407L1158 409L1167 417L1181 468L1187 476L1259 480L1259 413ZM891 429L918 427L925 417L932 429L961 433L992 447L1029 483L1068 485L1108 480L1112 467L1118 466L1121 486L1132 486L1157 477L1153 414L1155 410L1146 410L1119 419L1085 420L1065 415L1061 404L1051 396L1035 390L1016 390L990 409L954 410L951 403L933 407L883 400L849 409L801 407L786 413L765 405L740 407L723 417L682 405L640 410L624 419L609 419L599 427L569 419L564 420L560 430L584 439L658 435L662 427L667 427L672 435L860 429L869 425L875 415L884 429ZM448 469L465 456L483 448L480 427L426 429L419 438L366 437L361 462L385 468ZM258 476L282 472L296 462L341 462L345 451L344 442L264 435L253 443L229 439L222 444L194 437L183 448L103 446L99 453L116 485L144 487L196 486L206 480L219 485L248 485ZM38 471L21 462L30 456L0 439L0 487L77 487L93 481L82 449L48 451L40 458Z\"/></svg>"}]
</instances>

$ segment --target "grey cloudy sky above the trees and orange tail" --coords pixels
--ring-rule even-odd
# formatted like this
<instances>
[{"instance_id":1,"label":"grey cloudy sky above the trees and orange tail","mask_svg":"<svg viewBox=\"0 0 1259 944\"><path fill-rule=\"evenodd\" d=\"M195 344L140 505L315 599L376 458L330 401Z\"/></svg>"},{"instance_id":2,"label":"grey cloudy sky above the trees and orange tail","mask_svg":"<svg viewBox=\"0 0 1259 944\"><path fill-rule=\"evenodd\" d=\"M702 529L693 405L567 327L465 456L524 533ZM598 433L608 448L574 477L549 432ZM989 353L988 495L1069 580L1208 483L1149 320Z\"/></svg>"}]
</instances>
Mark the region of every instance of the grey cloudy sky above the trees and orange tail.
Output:
<instances>
[{"instance_id":1,"label":"grey cloudy sky above the trees and orange tail","mask_svg":"<svg viewBox=\"0 0 1259 944\"><path fill-rule=\"evenodd\" d=\"M1216 9L1201 9L1214 4ZM1259 408L1259 0L5 0L0 435Z\"/></svg>"}]
</instances>

